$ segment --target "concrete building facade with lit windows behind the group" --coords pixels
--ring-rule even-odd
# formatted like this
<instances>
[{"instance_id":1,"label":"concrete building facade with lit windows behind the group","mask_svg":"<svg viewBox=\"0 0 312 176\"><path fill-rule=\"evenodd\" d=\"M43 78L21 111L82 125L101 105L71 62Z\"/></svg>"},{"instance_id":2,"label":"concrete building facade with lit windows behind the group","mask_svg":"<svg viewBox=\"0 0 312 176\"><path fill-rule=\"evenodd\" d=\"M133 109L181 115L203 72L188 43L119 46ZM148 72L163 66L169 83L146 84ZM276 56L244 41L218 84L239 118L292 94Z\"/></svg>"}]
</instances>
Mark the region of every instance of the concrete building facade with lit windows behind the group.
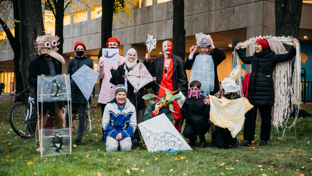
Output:
<instances>
[{"instance_id":1,"label":"concrete building facade with lit windows behind the group","mask_svg":"<svg viewBox=\"0 0 312 176\"><path fill-rule=\"evenodd\" d=\"M129 21L120 15L124 25L117 22L113 25L113 37L120 40L120 55L130 48L138 51L140 59L147 53L144 42L146 34L156 34L159 40L157 49L151 57L162 54L162 42L172 40L173 4L171 0L137 0L140 4L131 10ZM165 2L164 2L165 1ZM189 48L196 44L195 33L210 34L217 48L226 53L226 60L218 66L219 79L222 80L231 71L232 51L236 44L250 37L259 35L275 35L274 0L184 0L186 56ZM95 6L100 5L96 4ZM141 5L141 6L140 6ZM86 8L87 19L74 23L74 12L70 14L70 24L64 26L64 58L74 56L74 43L81 41L87 47L86 55L95 60L101 46L101 18L92 19L92 8ZM312 3L304 1L298 39L312 37ZM8 49L0 50L0 64L13 65L13 55ZM174 47L174 46L173 46ZM14 66L13 66L14 67ZM242 66L242 74L248 66ZM67 65L63 66L67 73Z\"/></svg>"}]
</instances>

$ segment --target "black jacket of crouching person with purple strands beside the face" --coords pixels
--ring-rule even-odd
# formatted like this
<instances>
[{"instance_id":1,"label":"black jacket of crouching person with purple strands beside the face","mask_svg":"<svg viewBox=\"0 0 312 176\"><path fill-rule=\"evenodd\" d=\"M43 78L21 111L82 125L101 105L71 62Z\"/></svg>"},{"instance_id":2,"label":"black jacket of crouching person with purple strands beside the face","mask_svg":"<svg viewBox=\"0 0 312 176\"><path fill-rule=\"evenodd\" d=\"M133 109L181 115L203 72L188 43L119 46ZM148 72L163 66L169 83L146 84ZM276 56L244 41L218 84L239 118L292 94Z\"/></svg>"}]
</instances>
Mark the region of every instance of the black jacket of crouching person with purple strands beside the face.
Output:
<instances>
[{"instance_id":1,"label":"black jacket of crouching person with purple strands beside the face","mask_svg":"<svg viewBox=\"0 0 312 176\"><path fill-rule=\"evenodd\" d=\"M182 106L182 117L186 119L186 123L189 124L190 119L199 118L206 122L209 121L210 106L204 104L205 97L201 96L198 99L186 98Z\"/></svg>"}]
</instances>

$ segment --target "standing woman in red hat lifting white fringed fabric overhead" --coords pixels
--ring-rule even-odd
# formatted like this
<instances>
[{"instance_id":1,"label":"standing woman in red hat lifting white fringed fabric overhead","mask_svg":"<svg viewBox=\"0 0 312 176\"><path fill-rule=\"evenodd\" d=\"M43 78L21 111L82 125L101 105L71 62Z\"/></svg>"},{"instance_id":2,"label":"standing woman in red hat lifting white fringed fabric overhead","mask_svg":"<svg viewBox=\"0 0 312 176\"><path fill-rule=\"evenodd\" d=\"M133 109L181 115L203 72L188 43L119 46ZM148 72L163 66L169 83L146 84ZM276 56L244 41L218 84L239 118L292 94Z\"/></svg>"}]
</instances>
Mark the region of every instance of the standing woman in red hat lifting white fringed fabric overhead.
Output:
<instances>
[{"instance_id":1,"label":"standing woman in red hat lifting white fringed fabric overhead","mask_svg":"<svg viewBox=\"0 0 312 176\"><path fill-rule=\"evenodd\" d=\"M298 43L297 39L293 39L294 47ZM244 140L241 146L251 144L255 137L255 126L257 109L261 114L261 133L260 146L267 145L270 139L271 128L271 111L274 105L274 83L273 71L276 63L286 62L291 60L296 50L291 47L287 54L275 54L270 50L270 45L267 40L259 38L256 41L256 52L254 55L246 57L243 50L240 49L240 43L237 44L236 49L240 60L245 64L251 64L251 74L249 78L248 100L254 105L254 108L246 113L246 120L244 123L243 136Z\"/></svg>"}]
</instances>

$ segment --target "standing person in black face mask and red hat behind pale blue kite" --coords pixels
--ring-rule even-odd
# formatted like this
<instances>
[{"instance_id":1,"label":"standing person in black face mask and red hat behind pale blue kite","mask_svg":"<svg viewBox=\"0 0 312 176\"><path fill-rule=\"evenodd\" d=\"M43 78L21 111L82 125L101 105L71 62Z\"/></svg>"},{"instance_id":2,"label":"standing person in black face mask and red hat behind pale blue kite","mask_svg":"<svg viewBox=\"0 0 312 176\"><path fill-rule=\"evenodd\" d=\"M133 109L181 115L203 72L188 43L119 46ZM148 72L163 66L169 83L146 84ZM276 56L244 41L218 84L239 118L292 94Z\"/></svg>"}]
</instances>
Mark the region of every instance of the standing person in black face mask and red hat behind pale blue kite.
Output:
<instances>
[{"instance_id":1,"label":"standing person in black face mask and red hat behind pale blue kite","mask_svg":"<svg viewBox=\"0 0 312 176\"><path fill-rule=\"evenodd\" d=\"M79 124L77 130L77 137L73 144L80 145L83 132L87 128L87 116L86 116L86 106L89 101L91 104L91 97L87 101L79 87L72 79L72 75L78 71L83 65L86 65L93 69L93 62L90 58L83 55L86 51L86 46L82 42L76 42L74 50L76 52L76 57L71 59L68 64L68 74L71 76L71 90L72 90L72 112L78 113ZM74 111L76 110L76 111Z\"/></svg>"}]
</instances>

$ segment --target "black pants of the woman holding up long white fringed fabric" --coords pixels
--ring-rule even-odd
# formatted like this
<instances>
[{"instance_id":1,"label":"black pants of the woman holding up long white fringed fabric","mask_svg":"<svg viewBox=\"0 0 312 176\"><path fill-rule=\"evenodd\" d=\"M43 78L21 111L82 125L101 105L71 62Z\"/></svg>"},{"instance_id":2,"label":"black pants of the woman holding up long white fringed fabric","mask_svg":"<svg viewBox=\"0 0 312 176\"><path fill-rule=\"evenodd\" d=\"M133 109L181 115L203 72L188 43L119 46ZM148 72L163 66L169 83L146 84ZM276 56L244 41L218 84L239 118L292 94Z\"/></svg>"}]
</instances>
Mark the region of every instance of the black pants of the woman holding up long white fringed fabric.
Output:
<instances>
[{"instance_id":1,"label":"black pants of the woman holding up long white fringed fabric","mask_svg":"<svg viewBox=\"0 0 312 176\"><path fill-rule=\"evenodd\" d=\"M271 111L272 106L259 105L254 106L250 109L245 117L244 123L244 139L249 141L255 140L255 128L256 128L256 118L257 110L259 109L261 115L261 133L260 139L268 141L270 139L270 130L271 130Z\"/></svg>"}]
</instances>

